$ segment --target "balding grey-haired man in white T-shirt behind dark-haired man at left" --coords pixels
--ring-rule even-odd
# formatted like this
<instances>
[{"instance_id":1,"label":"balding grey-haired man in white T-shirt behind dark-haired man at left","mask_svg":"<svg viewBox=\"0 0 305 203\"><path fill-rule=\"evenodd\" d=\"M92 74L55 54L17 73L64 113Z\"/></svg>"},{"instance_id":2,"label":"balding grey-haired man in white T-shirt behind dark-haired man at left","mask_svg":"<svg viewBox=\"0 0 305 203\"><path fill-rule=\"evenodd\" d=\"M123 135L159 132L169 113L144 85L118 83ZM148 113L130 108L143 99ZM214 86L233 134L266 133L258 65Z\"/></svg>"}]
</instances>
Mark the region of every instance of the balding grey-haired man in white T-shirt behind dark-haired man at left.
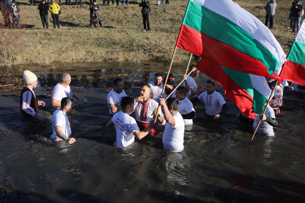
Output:
<instances>
[{"instance_id":1,"label":"balding grey-haired man in white T-shirt behind dark-haired man at left","mask_svg":"<svg viewBox=\"0 0 305 203\"><path fill-rule=\"evenodd\" d=\"M81 98L71 91L70 88L71 76L68 73L63 73L60 77L60 82L56 84L52 91L51 105L56 109L61 106L61 99L69 97L70 99L76 98L80 101ZM75 105L74 102L73 106Z\"/></svg>"}]
</instances>

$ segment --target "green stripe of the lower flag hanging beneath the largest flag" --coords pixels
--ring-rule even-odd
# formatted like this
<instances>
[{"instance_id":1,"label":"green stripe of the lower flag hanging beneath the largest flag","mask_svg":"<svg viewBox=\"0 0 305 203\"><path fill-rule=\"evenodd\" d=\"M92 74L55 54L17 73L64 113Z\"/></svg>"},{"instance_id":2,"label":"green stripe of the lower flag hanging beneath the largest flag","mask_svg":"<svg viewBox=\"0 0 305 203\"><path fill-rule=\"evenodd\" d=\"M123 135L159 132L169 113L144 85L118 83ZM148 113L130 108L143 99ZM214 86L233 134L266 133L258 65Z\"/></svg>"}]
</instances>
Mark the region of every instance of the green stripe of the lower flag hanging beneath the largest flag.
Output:
<instances>
[{"instance_id":1,"label":"green stripe of the lower flag hanging beneath the largest flag","mask_svg":"<svg viewBox=\"0 0 305 203\"><path fill-rule=\"evenodd\" d=\"M264 104L267 102L267 98L253 87L249 73L229 69L224 66L221 67L236 84L252 96L254 107L253 112L261 114L264 110Z\"/></svg>"}]
</instances>

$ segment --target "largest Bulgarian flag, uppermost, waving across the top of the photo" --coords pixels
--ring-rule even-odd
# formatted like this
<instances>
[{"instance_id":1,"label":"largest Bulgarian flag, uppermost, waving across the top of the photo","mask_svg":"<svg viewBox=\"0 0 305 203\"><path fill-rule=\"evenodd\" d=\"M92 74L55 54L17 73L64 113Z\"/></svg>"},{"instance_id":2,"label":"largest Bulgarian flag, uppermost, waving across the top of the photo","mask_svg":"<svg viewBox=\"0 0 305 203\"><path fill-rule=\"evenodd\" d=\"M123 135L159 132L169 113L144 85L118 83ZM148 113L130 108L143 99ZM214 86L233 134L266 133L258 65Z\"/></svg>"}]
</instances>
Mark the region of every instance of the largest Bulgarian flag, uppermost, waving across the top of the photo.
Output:
<instances>
[{"instance_id":1,"label":"largest Bulgarian flag, uppermost, waving across the top of the photo","mask_svg":"<svg viewBox=\"0 0 305 203\"><path fill-rule=\"evenodd\" d=\"M189 0L176 46L217 64L280 80L285 53L270 30L231 0Z\"/></svg>"}]
</instances>

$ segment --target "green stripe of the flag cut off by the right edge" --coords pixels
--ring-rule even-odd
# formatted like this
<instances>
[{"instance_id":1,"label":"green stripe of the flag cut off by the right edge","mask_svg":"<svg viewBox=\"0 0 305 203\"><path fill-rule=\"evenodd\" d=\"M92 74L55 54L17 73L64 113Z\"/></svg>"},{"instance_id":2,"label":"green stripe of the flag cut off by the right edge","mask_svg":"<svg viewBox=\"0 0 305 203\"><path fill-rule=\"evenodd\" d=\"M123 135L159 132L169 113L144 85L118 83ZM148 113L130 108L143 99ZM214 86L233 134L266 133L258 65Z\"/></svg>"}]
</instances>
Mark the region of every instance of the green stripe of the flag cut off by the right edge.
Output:
<instances>
[{"instance_id":1,"label":"green stripe of the flag cut off by the right edge","mask_svg":"<svg viewBox=\"0 0 305 203\"><path fill-rule=\"evenodd\" d=\"M305 65L305 44L299 41L294 41L289 51L287 60Z\"/></svg>"}]
</instances>

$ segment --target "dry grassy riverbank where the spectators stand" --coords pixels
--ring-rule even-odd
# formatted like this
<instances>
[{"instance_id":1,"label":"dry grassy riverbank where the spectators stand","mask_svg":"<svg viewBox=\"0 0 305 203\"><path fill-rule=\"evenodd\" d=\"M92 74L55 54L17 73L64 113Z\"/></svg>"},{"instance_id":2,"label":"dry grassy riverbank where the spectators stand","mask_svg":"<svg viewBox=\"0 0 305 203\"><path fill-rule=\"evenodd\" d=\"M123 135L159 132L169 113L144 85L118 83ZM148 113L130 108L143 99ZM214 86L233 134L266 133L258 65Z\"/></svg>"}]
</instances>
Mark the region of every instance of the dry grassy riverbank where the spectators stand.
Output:
<instances>
[{"instance_id":1,"label":"dry grassy riverbank where the spectators stand","mask_svg":"<svg viewBox=\"0 0 305 203\"><path fill-rule=\"evenodd\" d=\"M43 30L37 6L29 6L29 1L20 0L23 16L20 23L27 29L17 33L19 41L25 43L16 53L15 59L0 63L1 66L31 63L48 65L52 62L149 62L169 63L174 50L181 22L188 1L175 0L169 5L156 5L151 1L149 16L151 32L143 31L139 0L128 6L100 6L99 11L104 28L89 27L89 0L82 6L62 5L60 29L53 30L49 14L50 30ZM99 5L102 4L98 0ZM264 5L267 1L237 1L244 9L264 22ZM271 30L286 53L295 37L290 33L289 8L291 2L277 0L274 28ZM0 15L0 22L2 22ZM11 35L10 35L11 36ZM188 61L189 53L177 49L174 63ZM3 60L3 59L2 59Z\"/></svg>"}]
</instances>

